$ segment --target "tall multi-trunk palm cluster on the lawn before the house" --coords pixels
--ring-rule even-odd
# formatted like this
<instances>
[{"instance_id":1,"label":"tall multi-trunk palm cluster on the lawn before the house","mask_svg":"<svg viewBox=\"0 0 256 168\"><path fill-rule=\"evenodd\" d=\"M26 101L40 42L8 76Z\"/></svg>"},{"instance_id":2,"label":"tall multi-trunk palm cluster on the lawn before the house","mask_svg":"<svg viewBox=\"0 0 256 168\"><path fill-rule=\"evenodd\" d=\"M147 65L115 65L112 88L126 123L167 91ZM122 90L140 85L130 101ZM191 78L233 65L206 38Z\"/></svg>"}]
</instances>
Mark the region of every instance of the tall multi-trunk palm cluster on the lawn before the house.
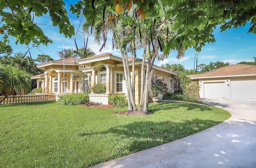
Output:
<instances>
[{"instance_id":1,"label":"tall multi-trunk palm cluster on the lawn before the house","mask_svg":"<svg viewBox=\"0 0 256 168\"><path fill-rule=\"evenodd\" d=\"M162 8L158 8L158 18L150 18L150 16L147 19L141 19L140 23L137 24L136 21L138 21L137 16L135 15L129 15L129 12L124 10L122 13L125 18L129 19L111 19L115 18L112 16L118 16L116 12L105 12L106 16L109 16L108 20L102 20L102 16L97 14L94 19L94 25L93 25L93 35L95 37L95 42L99 43L100 40L103 40L102 47L104 47L106 43L106 35L108 32L112 33L113 41L115 42L115 46L120 49L123 64L124 64L124 75L126 77L126 88L127 88L127 97L128 97L128 112L131 111L137 111L134 101L134 94L132 91L132 83L130 81L130 77L128 75L129 67L128 67L128 59L127 59L127 46L128 44L131 45L132 48L132 54L133 59L135 58L135 39L138 38L138 41L141 41L140 43L144 44L144 57L143 61L145 59L147 60L147 70L146 70L146 79L145 79L145 87L143 89L143 99L140 104L140 111L144 114L147 113L147 95L148 95L148 85L150 84L150 78L149 73L152 71L152 67L154 64L155 59L163 59L164 57L167 57L170 53L170 51L165 51L164 54L159 54L158 51L163 51L165 45L167 44L167 41L172 39L174 37L175 32L172 32L171 28L173 23L171 20L166 20L165 14L166 9L162 6L162 1L158 1L158 5ZM133 10L134 13L137 13L138 9L136 9L136 6ZM124 17L123 17L124 18ZM132 22L130 22L132 20ZM133 21L134 20L134 21ZM128 23L129 22L129 23ZM86 34L90 35L90 28L91 23L84 23L83 30ZM170 29L169 29L170 28ZM141 30L141 31L140 31ZM137 32L137 34L136 34ZM139 33L138 33L139 32ZM166 32L168 32L168 36L166 35ZM146 51L148 51L148 54L146 55ZM180 45L178 49L178 58L184 56L184 50L182 48L182 45ZM134 63L134 61L133 61ZM143 67L143 66L142 66ZM143 73L143 71L142 71ZM144 77L141 79L143 80ZM143 82L141 82L143 85ZM130 102L129 102L130 101ZM132 104L132 106L130 105Z\"/></svg>"}]
</instances>

